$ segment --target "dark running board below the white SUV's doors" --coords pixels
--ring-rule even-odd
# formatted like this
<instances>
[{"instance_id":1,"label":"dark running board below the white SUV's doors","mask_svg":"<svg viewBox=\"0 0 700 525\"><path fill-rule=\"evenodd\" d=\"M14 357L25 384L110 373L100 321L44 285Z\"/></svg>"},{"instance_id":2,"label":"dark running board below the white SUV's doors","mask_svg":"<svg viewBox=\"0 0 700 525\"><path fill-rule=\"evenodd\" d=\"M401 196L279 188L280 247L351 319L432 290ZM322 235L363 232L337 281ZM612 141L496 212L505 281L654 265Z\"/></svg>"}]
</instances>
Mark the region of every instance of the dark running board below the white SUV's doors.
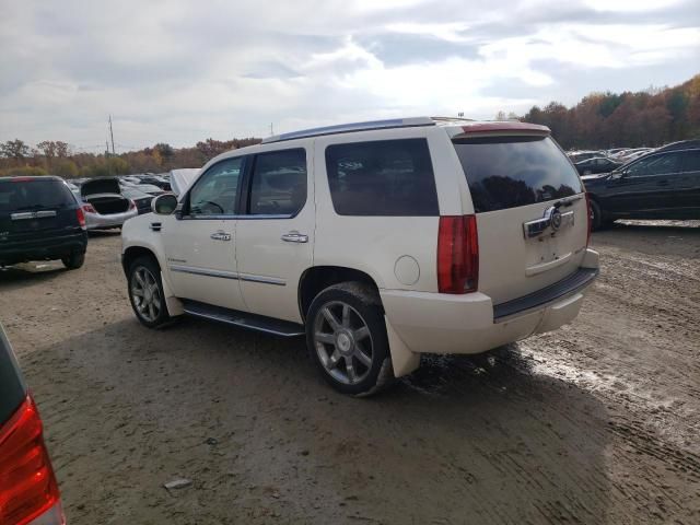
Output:
<instances>
[{"instance_id":1,"label":"dark running board below the white SUV's doors","mask_svg":"<svg viewBox=\"0 0 700 525\"><path fill-rule=\"evenodd\" d=\"M264 315L238 312L237 310L223 308L199 301L183 300L183 308L188 315L218 320L228 325L240 326L250 330L264 331L281 337L295 337L305 334L304 327L298 323L275 319Z\"/></svg>"}]
</instances>

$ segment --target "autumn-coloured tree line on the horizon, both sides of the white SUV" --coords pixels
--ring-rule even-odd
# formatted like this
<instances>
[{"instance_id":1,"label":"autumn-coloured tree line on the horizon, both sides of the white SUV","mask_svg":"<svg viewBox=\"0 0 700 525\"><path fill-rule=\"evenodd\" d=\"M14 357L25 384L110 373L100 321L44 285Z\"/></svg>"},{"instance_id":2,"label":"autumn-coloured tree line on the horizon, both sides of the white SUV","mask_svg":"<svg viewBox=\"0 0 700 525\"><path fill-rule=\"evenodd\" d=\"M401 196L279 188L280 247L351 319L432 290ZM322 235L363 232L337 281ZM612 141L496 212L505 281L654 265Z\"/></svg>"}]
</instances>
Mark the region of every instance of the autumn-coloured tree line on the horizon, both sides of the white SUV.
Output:
<instances>
[{"instance_id":1,"label":"autumn-coloured tree line on the horizon, both sides of the white SUV","mask_svg":"<svg viewBox=\"0 0 700 525\"><path fill-rule=\"evenodd\" d=\"M700 74L674 88L642 92L592 93L573 107L551 102L523 116L499 112L497 119L516 118L548 126L565 149L655 147L700 138ZM59 175L65 178L166 172L201 167L224 151L257 144L260 139L207 139L194 148L158 143L112 155L71 151L67 142L45 140L31 147L20 139L0 142L0 176Z\"/></svg>"}]
</instances>

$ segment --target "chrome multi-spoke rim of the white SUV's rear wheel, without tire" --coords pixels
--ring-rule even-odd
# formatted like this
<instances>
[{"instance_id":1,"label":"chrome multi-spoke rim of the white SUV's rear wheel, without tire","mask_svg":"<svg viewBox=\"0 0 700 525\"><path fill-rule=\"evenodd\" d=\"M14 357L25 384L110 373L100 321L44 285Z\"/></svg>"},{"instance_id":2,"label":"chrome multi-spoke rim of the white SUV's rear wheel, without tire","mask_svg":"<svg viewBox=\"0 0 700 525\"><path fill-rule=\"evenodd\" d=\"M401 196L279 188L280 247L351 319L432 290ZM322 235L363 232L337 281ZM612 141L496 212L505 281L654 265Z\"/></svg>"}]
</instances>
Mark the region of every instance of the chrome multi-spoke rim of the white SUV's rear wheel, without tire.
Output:
<instances>
[{"instance_id":1,"label":"chrome multi-spoke rim of the white SUV's rear wheel, without tire","mask_svg":"<svg viewBox=\"0 0 700 525\"><path fill-rule=\"evenodd\" d=\"M370 327L349 304L332 301L318 310L314 347L326 372L342 384L360 383L372 369Z\"/></svg>"}]
</instances>

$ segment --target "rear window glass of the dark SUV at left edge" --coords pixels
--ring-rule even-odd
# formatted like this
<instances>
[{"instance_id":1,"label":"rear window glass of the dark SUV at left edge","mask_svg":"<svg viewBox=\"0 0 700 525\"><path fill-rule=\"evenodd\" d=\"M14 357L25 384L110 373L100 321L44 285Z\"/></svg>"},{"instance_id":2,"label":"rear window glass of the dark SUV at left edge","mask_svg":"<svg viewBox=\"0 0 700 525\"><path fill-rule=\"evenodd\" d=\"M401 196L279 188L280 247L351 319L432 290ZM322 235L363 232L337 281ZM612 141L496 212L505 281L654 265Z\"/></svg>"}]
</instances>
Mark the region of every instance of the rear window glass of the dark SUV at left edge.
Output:
<instances>
[{"instance_id":1,"label":"rear window glass of the dark SUV at left edge","mask_svg":"<svg viewBox=\"0 0 700 525\"><path fill-rule=\"evenodd\" d=\"M56 209L75 199L61 180L0 180L0 212Z\"/></svg>"}]
</instances>

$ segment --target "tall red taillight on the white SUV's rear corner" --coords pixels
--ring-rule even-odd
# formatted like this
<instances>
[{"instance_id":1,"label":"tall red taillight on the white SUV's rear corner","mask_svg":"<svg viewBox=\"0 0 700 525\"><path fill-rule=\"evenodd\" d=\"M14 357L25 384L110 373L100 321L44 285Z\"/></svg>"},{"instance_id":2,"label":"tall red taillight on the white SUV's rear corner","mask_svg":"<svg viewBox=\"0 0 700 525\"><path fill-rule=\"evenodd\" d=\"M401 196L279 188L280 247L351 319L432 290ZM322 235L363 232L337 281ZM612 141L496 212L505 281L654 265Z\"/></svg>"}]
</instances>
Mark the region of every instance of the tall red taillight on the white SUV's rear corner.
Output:
<instances>
[{"instance_id":1,"label":"tall red taillight on the white SUV's rear corner","mask_svg":"<svg viewBox=\"0 0 700 525\"><path fill-rule=\"evenodd\" d=\"M476 292L479 285L479 237L476 215L441 217L438 232L438 290Z\"/></svg>"}]
</instances>

